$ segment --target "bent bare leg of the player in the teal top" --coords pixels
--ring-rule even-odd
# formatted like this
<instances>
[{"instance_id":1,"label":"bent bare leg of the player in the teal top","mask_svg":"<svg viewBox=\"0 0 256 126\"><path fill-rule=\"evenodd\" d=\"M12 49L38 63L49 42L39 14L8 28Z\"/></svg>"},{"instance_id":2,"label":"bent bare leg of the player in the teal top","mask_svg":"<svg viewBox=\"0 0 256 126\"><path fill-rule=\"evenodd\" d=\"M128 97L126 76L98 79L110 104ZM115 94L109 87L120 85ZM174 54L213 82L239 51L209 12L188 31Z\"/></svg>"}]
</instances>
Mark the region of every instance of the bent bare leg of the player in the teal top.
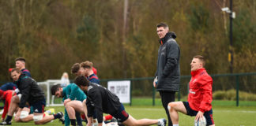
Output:
<instances>
[{"instance_id":1,"label":"bent bare leg of the player in the teal top","mask_svg":"<svg viewBox=\"0 0 256 126\"><path fill-rule=\"evenodd\" d=\"M76 112L84 113L83 105L81 101L73 100L66 103L66 111L70 117L71 124L76 123Z\"/></svg>"}]
</instances>

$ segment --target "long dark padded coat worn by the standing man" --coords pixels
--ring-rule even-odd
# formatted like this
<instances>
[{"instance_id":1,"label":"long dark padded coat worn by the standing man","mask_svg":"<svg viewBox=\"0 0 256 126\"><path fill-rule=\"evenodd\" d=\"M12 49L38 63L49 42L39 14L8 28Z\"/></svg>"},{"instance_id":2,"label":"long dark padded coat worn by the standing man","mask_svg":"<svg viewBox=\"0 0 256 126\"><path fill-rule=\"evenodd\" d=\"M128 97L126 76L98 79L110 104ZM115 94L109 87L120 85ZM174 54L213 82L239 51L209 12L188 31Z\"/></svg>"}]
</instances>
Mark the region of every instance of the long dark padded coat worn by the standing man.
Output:
<instances>
[{"instance_id":1,"label":"long dark padded coat worn by the standing man","mask_svg":"<svg viewBox=\"0 0 256 126\"><path fill-rule=\"evenodd\" d=\"M158 82L157 91L179 91L180 69L179 45L175 41L174 32L168 32L163 39L160 39L160 47L157 57L156 75Z\"/></svg>"}]
</instances>

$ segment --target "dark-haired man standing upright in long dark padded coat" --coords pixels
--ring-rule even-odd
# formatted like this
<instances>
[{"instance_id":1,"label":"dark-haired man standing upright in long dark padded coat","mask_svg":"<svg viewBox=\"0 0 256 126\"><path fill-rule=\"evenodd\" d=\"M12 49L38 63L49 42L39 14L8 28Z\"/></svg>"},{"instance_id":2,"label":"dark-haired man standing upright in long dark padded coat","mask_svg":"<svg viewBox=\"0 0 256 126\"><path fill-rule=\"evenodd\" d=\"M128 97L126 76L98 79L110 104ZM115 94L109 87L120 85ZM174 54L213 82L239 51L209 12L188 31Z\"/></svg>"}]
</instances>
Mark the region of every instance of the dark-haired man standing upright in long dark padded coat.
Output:
<instances>
[{"instance_id":1,"label":"dark-haired man standing upright in long dark padded coat","mask_svg":"<svg viewBox=\"0 0 256 126\"><path fill-rule=\"evenodd\" d=\"M157 57L157 68L153 86L159 91L162 105L168 115L168 125L171 126L171 118L168 111L168 103L175 101L175 91L179 91L179 45L176 43L176 35L169 32L168 24L160 23L156 26L160 47Z\"/></svg>"}]
</instances>

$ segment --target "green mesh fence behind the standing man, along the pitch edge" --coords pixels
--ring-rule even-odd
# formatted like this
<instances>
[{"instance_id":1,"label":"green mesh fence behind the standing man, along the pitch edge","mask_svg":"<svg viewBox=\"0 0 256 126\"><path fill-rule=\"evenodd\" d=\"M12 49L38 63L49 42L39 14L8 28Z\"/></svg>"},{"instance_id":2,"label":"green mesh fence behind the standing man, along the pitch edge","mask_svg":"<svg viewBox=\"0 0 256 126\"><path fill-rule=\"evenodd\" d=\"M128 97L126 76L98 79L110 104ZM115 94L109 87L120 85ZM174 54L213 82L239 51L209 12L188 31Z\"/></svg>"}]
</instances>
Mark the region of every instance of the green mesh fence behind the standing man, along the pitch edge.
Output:
<instances>
[{"instance_id":1,"label":"green mesh fence behind the standing man, along the pitch edge","mask_svg":"<svg viewBox=\"0 0 256 126\"><path fill-rule=\"evenodd\" d=\"M213 92L219 92L214 95L213 100L218 100L220 97L227 97L224 100L233 100L236 106L239 106L239 92L243 92L242 100L256 101L256 72L252 73L237 73L237 74L218 74L211 75L213 77ZM160 98L159 93L152 87L153 77L143 78L128 78L119 80L130 80L131 82L131 98L152 98L152 106L155 105L155 98ZM117 79L114 79L117 80ZM107 87L107 81L100 80L100 83ZM178 100L186 100L188 95L188 83L190 76L181 76L179 92L176 94ZM226 95L228 93L228 96ZM250 94L250 95L248 95ZM221 96L224 95L224 96ZM247 96L248 95L248 96ZM215 99L216 98L216 99ZM220 98L223 99L223 98ZM131 100L132 101L132 100ZM241 100L240 100L241 101ZM133 103L131 102L130 105ZM250 105L248 105L250 106Z\"/></svg>"}]
</instances>

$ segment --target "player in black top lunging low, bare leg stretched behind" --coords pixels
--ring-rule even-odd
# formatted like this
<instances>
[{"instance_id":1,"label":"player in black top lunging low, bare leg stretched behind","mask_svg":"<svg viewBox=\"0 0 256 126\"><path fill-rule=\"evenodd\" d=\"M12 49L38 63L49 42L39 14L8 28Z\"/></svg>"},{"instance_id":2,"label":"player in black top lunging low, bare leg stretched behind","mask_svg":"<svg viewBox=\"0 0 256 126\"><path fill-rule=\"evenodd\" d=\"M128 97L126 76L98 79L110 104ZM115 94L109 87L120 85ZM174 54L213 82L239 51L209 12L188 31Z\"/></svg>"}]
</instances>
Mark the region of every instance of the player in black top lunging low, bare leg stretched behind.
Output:
<instances>
[{"instance_id":1,"label":"player in black top lunging low, bare leg stretched behind","mask_svg":"<svg viewBox=\"0 0 256 126\"><path fill-rule=\"evenodd\" d=\"M103 124L103 113L111 114L111 116L120 120L122 124L128 126L151 124L165 126L166 124L165 119L134 119L134 117L126 113L124 106L119 102L119 98L116 95L108 91L105 87L89 82L85 76L77 76L74 83L76 83L82 91L85 91L87 95L88 125L92 125L92 115L94 111L96 111L98 126L102 126Z\"/></svg>"}]
</instances>

